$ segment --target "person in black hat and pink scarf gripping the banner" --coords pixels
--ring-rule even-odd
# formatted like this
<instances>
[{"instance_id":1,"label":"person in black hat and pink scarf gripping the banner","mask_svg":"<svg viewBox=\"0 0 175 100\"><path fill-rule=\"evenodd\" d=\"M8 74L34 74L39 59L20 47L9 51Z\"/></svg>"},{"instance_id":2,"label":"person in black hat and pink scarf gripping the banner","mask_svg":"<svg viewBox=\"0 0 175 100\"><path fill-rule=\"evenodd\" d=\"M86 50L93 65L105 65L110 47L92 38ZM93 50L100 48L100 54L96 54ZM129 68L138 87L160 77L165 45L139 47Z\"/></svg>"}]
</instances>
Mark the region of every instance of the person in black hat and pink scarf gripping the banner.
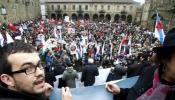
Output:
<instances>
[{"instance_id":1,"label":"person in black hat and pink scarf gripping the banner","mask_svg":"<svg viewBox=\"0 0 175 100\"><path fill-rule=\"evenodd\" d=\"M163 45L153 51L156 65L145 68L132 88L106 84L114 100L175 100L175 28L168 31Z\"/></svg>"}]
</instances>

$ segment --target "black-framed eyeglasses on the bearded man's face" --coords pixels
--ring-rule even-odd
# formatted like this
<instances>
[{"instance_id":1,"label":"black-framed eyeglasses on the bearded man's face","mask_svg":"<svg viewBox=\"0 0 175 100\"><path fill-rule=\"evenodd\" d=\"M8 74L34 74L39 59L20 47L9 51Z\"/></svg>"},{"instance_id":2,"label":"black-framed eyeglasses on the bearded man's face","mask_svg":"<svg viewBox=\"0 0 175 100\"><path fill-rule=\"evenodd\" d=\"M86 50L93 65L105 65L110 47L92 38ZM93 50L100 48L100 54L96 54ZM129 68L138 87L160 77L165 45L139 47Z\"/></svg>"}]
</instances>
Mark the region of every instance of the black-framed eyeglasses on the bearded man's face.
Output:
<instances>
[{"instance_id":1,"label":"black-framed eyeglasses on the bearded man's face","mask_svg":"<svg viewBox=\"0 0 175 100\"><path fill-rule=\"evenodd\" d=\"M35 73L37 67L38 67L40 70L44 70L44 67L43 67L43 65L42 65L42 63L41 63L40 61L38 62L37 65L34 65L33 63L25 63L23 66L25 67L24 69L11 72L11 74L26 73L26 75L29 75L29 74Z\"/></svg>"}]
</instances>

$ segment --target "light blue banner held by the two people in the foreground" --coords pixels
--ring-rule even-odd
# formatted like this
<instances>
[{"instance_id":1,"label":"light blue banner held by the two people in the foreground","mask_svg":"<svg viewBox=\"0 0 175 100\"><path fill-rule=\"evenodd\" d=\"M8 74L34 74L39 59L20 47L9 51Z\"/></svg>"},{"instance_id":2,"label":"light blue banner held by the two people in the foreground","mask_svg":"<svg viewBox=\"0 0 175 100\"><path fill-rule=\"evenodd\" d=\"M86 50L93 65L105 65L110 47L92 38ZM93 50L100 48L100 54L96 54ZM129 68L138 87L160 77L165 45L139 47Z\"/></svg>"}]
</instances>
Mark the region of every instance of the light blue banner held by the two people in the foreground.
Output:
<instances>
[{"instance_id":1,"label":"light blue banner held by the two people in the foreground","mask_svg":"<svg viewBox=\"0 0 175 100\"><path fill-rule=\"evenodd\" d=\"M122 88L132 87L138 79L138 76L127 78L116 84ZM113 94L105 89L105 85L89 86L83 88L71 89L73 100L113 100ZM61 91L54 88L50 100L61 100Z\"/></svg>"}]
</instances>

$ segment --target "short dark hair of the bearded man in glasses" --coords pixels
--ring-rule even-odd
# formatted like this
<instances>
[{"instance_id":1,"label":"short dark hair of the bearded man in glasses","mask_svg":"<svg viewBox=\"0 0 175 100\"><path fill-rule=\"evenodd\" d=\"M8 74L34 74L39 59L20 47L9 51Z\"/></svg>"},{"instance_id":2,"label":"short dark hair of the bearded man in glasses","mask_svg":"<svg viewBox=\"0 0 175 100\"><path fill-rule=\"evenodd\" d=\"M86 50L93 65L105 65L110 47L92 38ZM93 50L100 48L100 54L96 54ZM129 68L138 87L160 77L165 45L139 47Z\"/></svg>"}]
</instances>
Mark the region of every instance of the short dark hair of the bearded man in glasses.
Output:
<instances>
[{"instance_id":1,"label":"short dark hair of the bearded man in glasses","mask_svg":"<svg viewBox=\"0 0 175 100\"><path fill-rule=\"evenodd\" d=\"M12 67L11 67L11 64L8 62L8 56L18 52L32 53L37 51L34 46L24 43L23 41L20 41L20 40L16 40L13 43L10 43L5 45L4 47L1 47L0 48L0 75L1 74L11 75Z\"/></svg>"}]
</instances>

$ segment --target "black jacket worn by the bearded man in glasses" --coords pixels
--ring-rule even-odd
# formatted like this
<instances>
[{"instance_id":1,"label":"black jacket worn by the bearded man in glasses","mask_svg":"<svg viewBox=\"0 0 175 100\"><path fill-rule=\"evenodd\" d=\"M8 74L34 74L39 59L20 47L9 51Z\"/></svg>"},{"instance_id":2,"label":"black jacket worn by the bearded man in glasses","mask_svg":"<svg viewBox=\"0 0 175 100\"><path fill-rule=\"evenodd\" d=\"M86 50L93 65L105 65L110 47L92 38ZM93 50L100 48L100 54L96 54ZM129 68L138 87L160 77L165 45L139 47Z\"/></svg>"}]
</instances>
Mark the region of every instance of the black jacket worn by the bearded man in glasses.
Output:
<instances>
[{"instance_id":1,"label":"black jacket worn by the bearded man in glasses","mask_svg":"<svg viewBox=\"0 0 175 100\"><path fill-rule=\"evenodd\" d=\"M0 86L0 100L49 100L44 95L19 93Z\"/></svg>"}]
</instances>

